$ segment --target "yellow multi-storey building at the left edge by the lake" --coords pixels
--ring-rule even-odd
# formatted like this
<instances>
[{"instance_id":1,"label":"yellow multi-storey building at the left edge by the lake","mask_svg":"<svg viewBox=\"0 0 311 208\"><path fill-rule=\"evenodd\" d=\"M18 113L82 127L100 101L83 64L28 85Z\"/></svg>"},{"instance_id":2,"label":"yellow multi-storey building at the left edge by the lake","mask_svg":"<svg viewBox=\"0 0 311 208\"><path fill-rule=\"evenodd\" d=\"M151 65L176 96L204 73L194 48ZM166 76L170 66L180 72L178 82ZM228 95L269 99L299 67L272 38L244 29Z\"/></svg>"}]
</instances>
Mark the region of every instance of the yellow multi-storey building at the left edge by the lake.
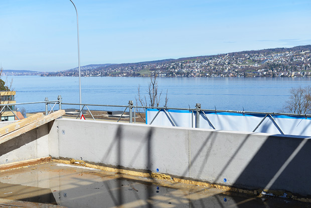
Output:
<instances>
[{"instance_id":1,"label":"yellow multi-storey building at the left edge by the lake","mask_svg":"<svg viewBox=\"0 0 311 208\"><path fill-rule=\"evenodd\" d=\"M0 103L3 104L13 104L16 103L15 101L15 94L16 91L0 91ZM1 107L0 109L5 108L2 112L1 112L1 121L14 121L15 120L15 115L16 114L16 110L15 110L15 106L5 106L5 107ZM11 110L10 110L11 109ZM14 113L12 113L12 111Z\"/></svg>"}]
</instances>

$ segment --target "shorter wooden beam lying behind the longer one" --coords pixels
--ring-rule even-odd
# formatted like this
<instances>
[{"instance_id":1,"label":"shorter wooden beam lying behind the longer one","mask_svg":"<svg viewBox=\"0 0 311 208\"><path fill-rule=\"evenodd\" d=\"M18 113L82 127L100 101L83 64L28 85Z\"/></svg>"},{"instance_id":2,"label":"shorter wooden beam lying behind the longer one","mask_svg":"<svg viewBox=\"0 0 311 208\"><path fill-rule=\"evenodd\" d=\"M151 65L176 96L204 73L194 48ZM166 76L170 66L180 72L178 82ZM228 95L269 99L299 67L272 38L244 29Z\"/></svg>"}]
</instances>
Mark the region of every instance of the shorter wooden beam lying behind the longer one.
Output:
<instances>
[{"instance_id":1,"label":"shorter wooden beam lying behind the longer one","mask_svg":"<svg viewBox=\"0 0 311 208\"><path fill-rule=\"evenodd\" d=\"M9 134L15 130L18 130L22 127L25 127L35 121L38 121L40 119L43 118L43 113L38 113L38 114L35 114L33 116L30 116L26 119L23 119L23 120L20 120L20 121L17 121L13 124L9 124L3 128L0 128L0 137L6 135L6 134Z\"/></svg>"}]
</instances>

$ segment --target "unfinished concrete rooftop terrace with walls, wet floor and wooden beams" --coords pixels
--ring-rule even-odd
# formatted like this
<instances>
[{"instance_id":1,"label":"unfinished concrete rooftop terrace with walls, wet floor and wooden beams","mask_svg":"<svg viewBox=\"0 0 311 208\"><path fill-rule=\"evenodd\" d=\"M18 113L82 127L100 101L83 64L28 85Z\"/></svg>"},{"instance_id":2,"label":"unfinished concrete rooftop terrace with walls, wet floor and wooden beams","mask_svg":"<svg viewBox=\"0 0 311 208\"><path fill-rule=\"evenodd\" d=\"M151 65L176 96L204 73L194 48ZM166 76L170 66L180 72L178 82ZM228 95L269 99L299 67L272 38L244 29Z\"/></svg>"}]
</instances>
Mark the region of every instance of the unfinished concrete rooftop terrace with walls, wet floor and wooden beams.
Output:
<instances>
[{"instance_id":1,"label":"unfinished concrete rooftop terrace with walls, wet floor and wooden beams","mask_svg":"<svg viewBox=\"0 0 311 208\"><path fill-rule=\"evenodd\" d=\"M0 123L4 204L311 205L309 136L60 118L64 115L59 110Z\"/></svg>"}]
</instances>

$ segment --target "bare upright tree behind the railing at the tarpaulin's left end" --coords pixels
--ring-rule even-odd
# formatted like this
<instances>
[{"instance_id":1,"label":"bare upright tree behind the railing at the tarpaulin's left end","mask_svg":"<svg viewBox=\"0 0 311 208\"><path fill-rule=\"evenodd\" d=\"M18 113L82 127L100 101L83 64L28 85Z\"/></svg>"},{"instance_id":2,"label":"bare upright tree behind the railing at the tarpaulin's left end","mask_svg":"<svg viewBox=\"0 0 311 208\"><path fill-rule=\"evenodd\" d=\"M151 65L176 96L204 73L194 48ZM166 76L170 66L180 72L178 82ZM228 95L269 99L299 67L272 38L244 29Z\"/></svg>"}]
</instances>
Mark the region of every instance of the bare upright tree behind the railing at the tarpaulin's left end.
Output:
<instances>
[{"instance_id":1,"label":"bare upright tree behind the railing at the tarpaulin's left end","mask_svg":"<svg viewBox=\"0 0 311 208\"><path fill-rule=\"evenodd\" d=\"M161 92L159 90L158 80L157 76L150 77L150 81L148 82L148 88L146 89L146 95L142 95L140 90L140 84L138 84L137 87L137 96L135 96L136 105L141 105L143 107L159 107L160 101L161 101ZM168 98L168 90L166 92L165 102L163 107L167 107L169 102ZM145 110L144 110L145 112ZM137 109L137 113L140 115L140 117L143 119L143 117L140 114L140 109Z\"/></svg>"}]
</instances>

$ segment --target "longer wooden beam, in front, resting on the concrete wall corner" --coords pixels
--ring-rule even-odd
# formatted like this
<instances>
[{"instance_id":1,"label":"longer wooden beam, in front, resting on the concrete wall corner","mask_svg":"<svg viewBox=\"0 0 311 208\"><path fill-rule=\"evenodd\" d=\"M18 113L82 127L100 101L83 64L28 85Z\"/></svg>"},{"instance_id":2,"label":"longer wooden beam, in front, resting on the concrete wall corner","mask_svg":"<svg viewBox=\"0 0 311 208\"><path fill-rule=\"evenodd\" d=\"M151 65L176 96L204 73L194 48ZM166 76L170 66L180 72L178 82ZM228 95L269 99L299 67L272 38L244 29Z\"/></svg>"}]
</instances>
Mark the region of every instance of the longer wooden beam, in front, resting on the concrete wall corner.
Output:
<instances>
[{"instance_id":1,"label":"longer wooden beam, in front, resting on the concrete wall corner","mask_svg":"<svg viewBox=\"0 0 311 208\"><path fill-rule=\"evenodd\" d=\"M38 120L36 122L33 122L33 123L31 123L31 124L29 124L29 125L27 125L25 127L22 127L22 128L14 131L14 132L6 134L6 135L0 137L0 144L2 144L4 142L7 142L7 141L9 141L9 140L11 140L11 139L13 139L15 137L18 137L21 134L29 132L30 130L33 130L33 129L37 128L37 127L40 127L40 126L42 126L42 125L44 125L46 123L49 123L50 121L53 121L53 120L63 116L64 114L65 114L64 110L59 110L59 111L57 111L55 113L52 113L52 114L50 114L48 116L43 117L42 119L40 119L40 120Z\"/></svg>"}]
</instances>

